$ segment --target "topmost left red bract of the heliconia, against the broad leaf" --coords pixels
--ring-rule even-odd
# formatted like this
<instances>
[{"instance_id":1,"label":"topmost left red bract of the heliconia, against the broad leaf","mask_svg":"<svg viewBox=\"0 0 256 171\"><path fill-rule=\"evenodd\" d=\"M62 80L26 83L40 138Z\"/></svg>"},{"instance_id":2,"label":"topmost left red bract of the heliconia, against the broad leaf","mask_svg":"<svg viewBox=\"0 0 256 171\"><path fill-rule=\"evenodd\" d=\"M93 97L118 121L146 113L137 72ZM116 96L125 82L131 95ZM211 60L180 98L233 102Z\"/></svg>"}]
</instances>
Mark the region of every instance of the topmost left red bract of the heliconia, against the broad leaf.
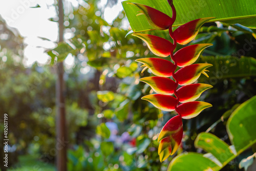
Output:
<instances>
[{"instance_id":1,"label":"topmost left red bract of the heliconia, against the broad leaf","mask_svg":"<svg viewBox=\"0 0 256 171\"><path fill-rule=\"evenodd\" d=\"M138 3L127 3L136 6L141 11L138 15L145 15L148 23L153 26L157 30L166 30L170 26L173 25L174 21L165 13L158 11L152 7L148 7L146 5L138 4Z\"/></svg>"}]
</instances>

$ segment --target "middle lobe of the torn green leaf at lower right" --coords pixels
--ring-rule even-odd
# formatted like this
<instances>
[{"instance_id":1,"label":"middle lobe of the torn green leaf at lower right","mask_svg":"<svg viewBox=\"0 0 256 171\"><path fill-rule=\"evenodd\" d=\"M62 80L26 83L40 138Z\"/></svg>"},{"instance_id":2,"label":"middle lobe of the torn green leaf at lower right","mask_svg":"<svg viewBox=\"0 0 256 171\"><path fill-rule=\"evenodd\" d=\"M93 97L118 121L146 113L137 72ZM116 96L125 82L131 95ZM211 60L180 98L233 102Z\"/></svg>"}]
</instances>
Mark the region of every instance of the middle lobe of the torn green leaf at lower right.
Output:
<instances>
[{"instance_id":1,"label":"middle lobe of the torn green leaf at lower right","mask_svg":"<svg viewBox=\"0 0 256 171\"><path fill-rule=\"evenodd\" d=\"M234 157L234 153L228 144L210 133L200 133L195 140L195 146L214 155L222 165L226 165L228 159Z\"/></svg>"}]
</instances>

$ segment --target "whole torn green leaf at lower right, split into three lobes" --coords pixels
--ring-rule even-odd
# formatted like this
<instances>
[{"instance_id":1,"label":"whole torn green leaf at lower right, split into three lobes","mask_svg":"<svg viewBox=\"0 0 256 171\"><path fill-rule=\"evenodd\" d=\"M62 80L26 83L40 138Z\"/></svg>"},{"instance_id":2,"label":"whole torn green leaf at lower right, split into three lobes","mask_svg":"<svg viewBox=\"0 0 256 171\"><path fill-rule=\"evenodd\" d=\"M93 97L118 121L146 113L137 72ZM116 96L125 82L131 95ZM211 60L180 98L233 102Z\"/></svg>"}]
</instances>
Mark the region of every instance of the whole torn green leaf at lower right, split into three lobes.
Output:
<instances>
[{"instance_id":1,"label":"whole torn green leaf at lower right, split into three lobes","mask_svg":"<svg viewBox=\"0 0 256 171\"><path fill-rule=\"evenodd\" d=\"M227 133L232 143L231 146L228 146L227 143L215 135L201 133L195 140L195 146L204 149L208 154L197 154L197 157L194 153L179 155L172 160L168 170L191 170L191 168L181 163L190 165L196 162L194 161L195 159L199 161L197 163L199 167L192 167L193 170L220 170L249 146L256 143L256 137L253 134L256 126L252 123L256 119L253 110L255 105L256 96L241 104L229 117L227 121Z\"/></svg>"}]
</instances>

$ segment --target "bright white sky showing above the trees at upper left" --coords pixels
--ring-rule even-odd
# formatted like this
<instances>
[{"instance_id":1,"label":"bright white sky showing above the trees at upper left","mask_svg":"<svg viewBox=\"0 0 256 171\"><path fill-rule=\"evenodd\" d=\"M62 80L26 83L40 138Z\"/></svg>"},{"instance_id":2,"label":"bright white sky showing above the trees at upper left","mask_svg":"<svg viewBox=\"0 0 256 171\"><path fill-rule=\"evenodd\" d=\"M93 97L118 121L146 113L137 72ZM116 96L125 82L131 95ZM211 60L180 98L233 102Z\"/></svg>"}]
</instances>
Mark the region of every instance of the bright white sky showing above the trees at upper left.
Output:
<instances>
[{"instance_id":1,"label":"bright white sky showing above the trees at upper left","mask_svg":"<svg viewBox=\"0 0 256 171\"><path fill-rule=\"evenodd\" d=\"M104 12L104 19L112 23L113 19L122 10L121 1L112 9L107 7ZM63 3L77 6L82 0L63 0ZM107 0L101 0L100 7L105 6ZM11 0L0 1L0 15L6 20L10 27L16 28L20 35L25 38L25 66L31 66L35 61L45 64L49 56L44 53L46 49L54 48L58 39L58 25L56 22L50 22L48 18L56 17L55 7L52 6L54 0ZM37 4L41 8L35 7ZM42 40L39 37L50 39ZM69 58L67 64L72 62Z\"/></svg>"}]
</instances>

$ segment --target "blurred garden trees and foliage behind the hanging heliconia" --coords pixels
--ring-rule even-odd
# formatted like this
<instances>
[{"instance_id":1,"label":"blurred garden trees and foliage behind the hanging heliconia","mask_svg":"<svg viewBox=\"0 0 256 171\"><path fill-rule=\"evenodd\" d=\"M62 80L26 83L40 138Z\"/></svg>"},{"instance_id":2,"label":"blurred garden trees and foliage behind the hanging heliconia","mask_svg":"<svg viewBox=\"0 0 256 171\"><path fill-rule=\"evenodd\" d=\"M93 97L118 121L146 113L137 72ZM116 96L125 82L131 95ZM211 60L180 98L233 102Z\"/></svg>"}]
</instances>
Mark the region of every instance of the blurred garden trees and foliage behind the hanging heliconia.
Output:
<instances>
[{"instance_id":1,"label":"blurred garden trees and foliage behind the hanging heliconia","mask_svg":"<svg viewBox=\"0 0 256 171\"><path fill-rule=\"evenodd\" d=\"M11 27L8 18L0 17L0 147L4 148L3 115L7 113L7 170L56 170L57 143L67 145L68 170L166 170L176 155L161 163L157 138L176 113L160 111L141 100L153 93L139 82L151 72L141 73L135 62L155 55L142 40L125 36L131 28L121 1L67 0L63 4L64 41L34 35L45 45L33 47L41 51L38 54L24 53L33 42ZM49 20L58 26L57 1L33 1L31 7L35 11L54 9L56 13ZM53 32L57 35L57 30ZM149 33L168 38L168 32ZM226 131L229 115L256 95L255 34L256 29L215 22L203 25L190 42L213 44L196 62L214 65L209 68L209 78L199 78L199 82L214 86L200 97L213 106L196 118L183 120L184 135L177 155L203 153L194 141L206 130L230 145ZM36 60L28 62L28 56ZM68 142L56 139L56 63L60 61L65 70ZM244 170L239 163L253 155L254 148L222 170ZM0 154L3 159L2 150ZM6 170L3 162L0 166Z\"/></svg>"}]
</instances>

